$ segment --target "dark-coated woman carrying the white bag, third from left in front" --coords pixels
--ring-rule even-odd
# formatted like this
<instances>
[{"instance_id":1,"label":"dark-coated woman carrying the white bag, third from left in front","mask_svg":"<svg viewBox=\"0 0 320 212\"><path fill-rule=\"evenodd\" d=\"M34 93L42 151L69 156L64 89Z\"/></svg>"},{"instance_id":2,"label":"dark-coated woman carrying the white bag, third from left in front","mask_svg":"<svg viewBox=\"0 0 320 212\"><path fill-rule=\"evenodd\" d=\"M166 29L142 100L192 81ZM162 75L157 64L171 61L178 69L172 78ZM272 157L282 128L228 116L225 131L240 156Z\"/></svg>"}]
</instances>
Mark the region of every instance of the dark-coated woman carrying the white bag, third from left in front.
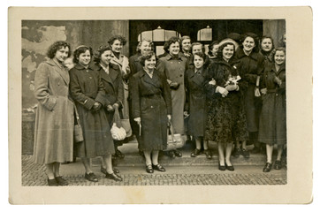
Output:
<instances>
[{"instance_id":1,"label":"dark-coated woman carrying the white bag, third from left in front","mask_svg":"<svg viewBox=\"0 0 320 212\"><path fill-rule=\"evenodd\" d=\"M107 114L109 125L113 125L113 115L116 109L122 109L122 102L124 101L124 87L122 83L121 72L117 64L111 64L111 48L109 46L101 46L95 51L94 55L94 70L99 73L103 81L103 88L106 94L104 101L104 110ZM113 140L115 151L122 140ZM102 160L101 171L107 174L107 164ZM114 172L119 173L117 169Z\"/></svg>"}]
</instances>

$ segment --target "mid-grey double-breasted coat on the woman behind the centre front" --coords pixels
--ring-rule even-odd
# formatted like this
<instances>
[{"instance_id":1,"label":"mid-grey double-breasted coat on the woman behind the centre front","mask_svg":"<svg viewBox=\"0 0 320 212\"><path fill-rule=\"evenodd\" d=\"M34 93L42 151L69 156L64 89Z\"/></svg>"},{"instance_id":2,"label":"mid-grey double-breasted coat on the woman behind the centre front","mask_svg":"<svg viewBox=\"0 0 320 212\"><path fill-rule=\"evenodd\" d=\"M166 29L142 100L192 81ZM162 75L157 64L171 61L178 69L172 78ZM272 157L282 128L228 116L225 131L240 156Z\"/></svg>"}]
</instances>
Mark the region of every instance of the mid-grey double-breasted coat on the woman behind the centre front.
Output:
<instances>
[{"instance_id":1,"label":"mid-grey double-breasted coat on the woman behind the centre front","mask_svg":"<svg viewBox=\"0 0 320 212\"><path fill-rule=\"evenodd\" d=\"M172 57L167 54L161 57L156 65L156 70L163 72L168 83L178 82L178 89L171 89L172 118L174 133L185 134L183 111L186 102L185 72L187 71L187 57Z\"/></svg>"}]
</instances>

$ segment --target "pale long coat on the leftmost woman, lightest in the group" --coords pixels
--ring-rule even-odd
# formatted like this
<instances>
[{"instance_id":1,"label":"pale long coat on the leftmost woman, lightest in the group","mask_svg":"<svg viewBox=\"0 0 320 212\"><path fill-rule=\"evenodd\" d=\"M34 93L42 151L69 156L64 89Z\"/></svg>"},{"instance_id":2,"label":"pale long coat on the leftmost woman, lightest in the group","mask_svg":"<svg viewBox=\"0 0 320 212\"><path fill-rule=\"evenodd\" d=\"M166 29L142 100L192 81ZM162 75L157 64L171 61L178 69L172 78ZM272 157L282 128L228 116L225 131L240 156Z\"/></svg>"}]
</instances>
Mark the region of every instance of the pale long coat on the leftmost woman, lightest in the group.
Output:
<instances>
[{"instance_id":1,"label":"pale long coat on the leftmost woman, lightest in the group","mask_svg":"<svg viewBox=\"0 0 320 212\"><path fill-rule=\"evenodd\" d=\"M68 71L55 59L40 64L35 72L35 163L72 161L74 106L69 99L69 82Z\"/></svg>"}]
</instances>

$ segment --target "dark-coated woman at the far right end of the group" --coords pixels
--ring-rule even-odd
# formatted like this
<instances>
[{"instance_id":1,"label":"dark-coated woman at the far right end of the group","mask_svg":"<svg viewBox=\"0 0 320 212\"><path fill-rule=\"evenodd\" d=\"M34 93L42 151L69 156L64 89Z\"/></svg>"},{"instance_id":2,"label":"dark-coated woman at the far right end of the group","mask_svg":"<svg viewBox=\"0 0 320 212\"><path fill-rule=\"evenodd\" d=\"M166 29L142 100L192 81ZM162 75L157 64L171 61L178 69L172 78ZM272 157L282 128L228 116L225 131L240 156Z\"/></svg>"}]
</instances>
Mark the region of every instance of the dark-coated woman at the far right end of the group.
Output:
<instances>
[{"instance_id":1,"label":"dark-coated woman at the far right end of the group","mask_svg":"<svg viewBox=\"0 0 320 212\"><path fill-rule=\"evenodd\" d=\"M275 49L272 58L274 62L266 65L261 86L263 108L259 141L266 144L267 150L267 163L263 172L271 170L274 145L278 149L274 169L281 169L281 154L286 144L286 49Z\"/></svg>"}]
</instances>

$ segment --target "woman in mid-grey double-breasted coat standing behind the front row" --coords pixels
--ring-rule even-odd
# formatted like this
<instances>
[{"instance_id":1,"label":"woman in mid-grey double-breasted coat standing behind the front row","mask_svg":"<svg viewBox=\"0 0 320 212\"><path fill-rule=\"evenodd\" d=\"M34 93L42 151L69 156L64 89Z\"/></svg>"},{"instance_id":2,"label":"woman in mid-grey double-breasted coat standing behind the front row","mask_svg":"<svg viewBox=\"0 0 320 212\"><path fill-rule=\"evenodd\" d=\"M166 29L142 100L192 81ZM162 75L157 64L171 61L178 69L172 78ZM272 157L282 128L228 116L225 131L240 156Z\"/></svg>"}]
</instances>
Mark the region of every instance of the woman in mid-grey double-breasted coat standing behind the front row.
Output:
<instances>
[{"instance_id":1,"label":"woman in mid-grey double-breasted coat standing behind the front row","mask_svg":"<svg viewBox=\"0 0 320 212\"><path fill-rule=\"evenodd\" d=\"M172 125L174 133L185 134L183 113L186 101L184 79L185 72L187 71L187 57L179 54L180 46L178 37L171 37L169 41L164 44L164 49L169 54L159 58L156 70L164 73L171 88ZM169 151L168 154L171 157L182 156L177 149Z\"/></svg>"}]
</instances>

